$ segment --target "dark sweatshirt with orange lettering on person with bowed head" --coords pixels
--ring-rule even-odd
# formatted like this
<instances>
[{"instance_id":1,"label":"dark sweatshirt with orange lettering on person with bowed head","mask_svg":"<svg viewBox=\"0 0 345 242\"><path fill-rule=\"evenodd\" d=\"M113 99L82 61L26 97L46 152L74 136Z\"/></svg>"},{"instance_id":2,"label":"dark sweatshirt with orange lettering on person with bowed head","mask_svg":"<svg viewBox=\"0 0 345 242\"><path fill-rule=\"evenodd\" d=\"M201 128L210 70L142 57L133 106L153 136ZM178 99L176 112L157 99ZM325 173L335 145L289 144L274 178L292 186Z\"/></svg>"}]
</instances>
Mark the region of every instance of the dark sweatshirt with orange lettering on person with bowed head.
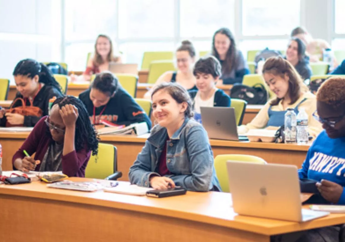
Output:
<instances>
[{"instance_id":1,"label":"dark sweatshirt with orange lettering on person with bowed head","mask_svg":"<svg viewBox=\"0 0 345 242\"><path fill-rule=\"evenodd\" d=\"M90 99L90 89L80 93L79 99L85 104L91 123L93 123L93 103ZM102 112L103 109L104 111ZM101 112L102 115L99 117ZM99 124L99 120L101 119L125 125L146 122L148 129L151 129L151 120L149 117L147 117L144 110L142 110L128 92L121 87L106 105L95 109L95 116L96 124Z\"/></svg>"}]
</instances>

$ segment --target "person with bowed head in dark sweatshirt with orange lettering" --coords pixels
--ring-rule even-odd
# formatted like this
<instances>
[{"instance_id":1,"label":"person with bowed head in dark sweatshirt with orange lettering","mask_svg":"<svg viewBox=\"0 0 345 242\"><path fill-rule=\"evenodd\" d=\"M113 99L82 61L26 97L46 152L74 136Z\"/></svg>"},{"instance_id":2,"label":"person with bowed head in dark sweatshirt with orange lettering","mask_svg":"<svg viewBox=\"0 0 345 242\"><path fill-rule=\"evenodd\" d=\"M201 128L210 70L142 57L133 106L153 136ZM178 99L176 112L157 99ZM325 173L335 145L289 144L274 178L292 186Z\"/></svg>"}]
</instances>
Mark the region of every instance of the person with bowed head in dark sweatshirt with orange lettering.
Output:
<instances>
[{"instance_id":1,"label":"person with bowed head in dark sweatshirt with orange lettering","mask_svg":"<svg viewBox=\"0 0 345 242\"><path fill-rule=\"evenodd\" d=\"M111 72L97 74L90 88L79 94L79 99L85 104L91 123L95 125L101 124L100 120L118 125L146 122L151 129L149 117Z\"/></svg>"}]
</instances>

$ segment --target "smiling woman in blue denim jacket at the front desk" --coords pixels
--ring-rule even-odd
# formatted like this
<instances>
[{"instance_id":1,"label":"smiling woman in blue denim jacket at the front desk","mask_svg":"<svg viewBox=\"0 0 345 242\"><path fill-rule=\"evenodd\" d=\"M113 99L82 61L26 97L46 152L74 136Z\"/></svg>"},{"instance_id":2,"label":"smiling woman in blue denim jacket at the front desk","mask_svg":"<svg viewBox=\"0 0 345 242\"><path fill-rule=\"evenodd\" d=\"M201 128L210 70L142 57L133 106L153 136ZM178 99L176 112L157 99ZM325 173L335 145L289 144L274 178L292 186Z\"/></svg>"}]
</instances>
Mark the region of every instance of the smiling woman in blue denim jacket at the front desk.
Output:
<instances>
[{"instance_id":1,"label":"smiling woman in blue denim jacket at the front desk","mask_svg":"<svg viewBox=\"0 0 345 242\"><path fill-rule=\"evenodd\" d=\"M204 128L193 117L191 99L177 83L161 83L152 91L158 124L129 169L132 184L155 189L220 191L213 152Z\"/></svg>"}]
</instances>

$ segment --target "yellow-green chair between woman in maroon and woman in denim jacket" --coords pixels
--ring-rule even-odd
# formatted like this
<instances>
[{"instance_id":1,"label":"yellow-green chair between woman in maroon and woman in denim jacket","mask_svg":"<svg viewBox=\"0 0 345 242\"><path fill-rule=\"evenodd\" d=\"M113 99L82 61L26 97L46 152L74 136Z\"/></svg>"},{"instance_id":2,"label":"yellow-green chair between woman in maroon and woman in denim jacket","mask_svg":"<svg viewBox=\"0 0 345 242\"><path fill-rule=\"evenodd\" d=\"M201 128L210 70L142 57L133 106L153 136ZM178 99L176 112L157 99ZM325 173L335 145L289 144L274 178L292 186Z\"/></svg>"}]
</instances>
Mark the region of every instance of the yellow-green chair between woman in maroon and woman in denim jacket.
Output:
<instances>
[{"instance_id":1,"label":"yellow-green chair between woman in maroon and woman in denim jacket","mask_svg":"<svg viewBox=\"0 0 345 242\"><path fill-rule=\"evenodd\" d=\"M117 150L111 144L98 144L98 154L91 155L85 177L105 179L117 171Z\"/></svg>"}]
</instances>

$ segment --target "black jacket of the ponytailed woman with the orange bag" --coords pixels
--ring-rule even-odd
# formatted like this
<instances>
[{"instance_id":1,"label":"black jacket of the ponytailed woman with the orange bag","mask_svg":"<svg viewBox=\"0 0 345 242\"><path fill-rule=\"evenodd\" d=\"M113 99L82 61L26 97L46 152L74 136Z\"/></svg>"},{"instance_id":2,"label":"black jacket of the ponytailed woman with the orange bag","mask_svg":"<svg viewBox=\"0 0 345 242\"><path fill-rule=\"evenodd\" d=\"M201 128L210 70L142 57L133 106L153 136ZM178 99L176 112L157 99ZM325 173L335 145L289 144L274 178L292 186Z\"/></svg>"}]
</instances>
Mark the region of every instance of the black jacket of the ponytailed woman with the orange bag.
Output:
<instances>
[{"instance_id":1,"label":"black jacket of the ponytailed woman with the orange bag","mask_svg":"<svg viewBox=\"0 0 345 242\"><path fill-rule=\"evenodd\" d=\"M37 93L36 97L33 99L32 105L34 105L35 107L39 107L43 112L43 116L49 115L49 99L53 97L60 98L62 97L62 93L56 87L53 87L51 85L44 85L41 88L41 90ZM20 94L20 92L17 92L16 98L14 98L14 100L16 100L17 98L23 98L23 95ZM27 106L30 106L29 99L26 99L25 104ZM20 107L21 105L22 105L22 102L18 100L16 103L13 104L12 108ZM42 117L25 116L24 126L25 127L35 126L35 124ZM6 125L6 116L0 120L0 126L5 127L5 125Z\"/></svg>"}]
</instances>

